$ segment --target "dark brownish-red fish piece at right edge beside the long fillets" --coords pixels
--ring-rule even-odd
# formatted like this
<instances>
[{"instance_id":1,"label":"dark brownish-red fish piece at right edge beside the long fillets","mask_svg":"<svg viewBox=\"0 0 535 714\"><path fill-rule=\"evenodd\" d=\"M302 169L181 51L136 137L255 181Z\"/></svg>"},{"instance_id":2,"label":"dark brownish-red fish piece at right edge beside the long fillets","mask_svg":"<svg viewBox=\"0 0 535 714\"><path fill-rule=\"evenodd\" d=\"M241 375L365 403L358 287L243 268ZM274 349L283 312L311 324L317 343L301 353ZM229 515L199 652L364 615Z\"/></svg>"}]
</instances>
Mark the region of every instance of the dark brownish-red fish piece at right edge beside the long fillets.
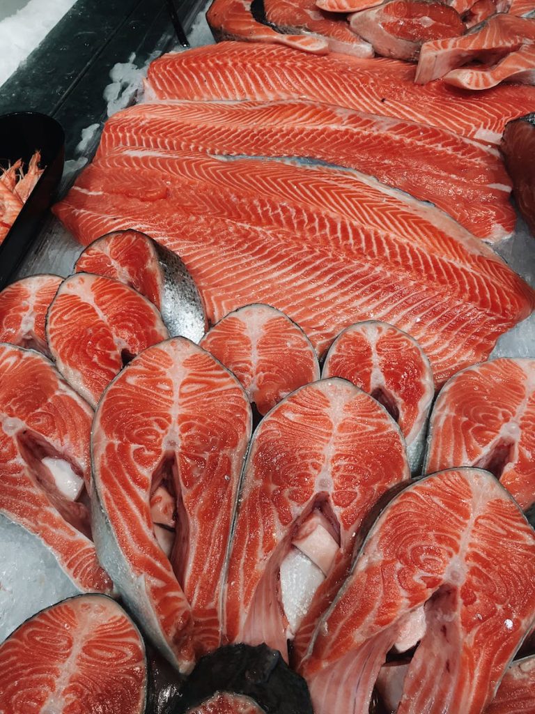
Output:
<instances>
[{"instance_id":1,"label":"dark brownish-red fish piece at right edge beside the long fillets","mask_svg":"<svg viewBox=\"0 0 535 714\"><path fill-rule=\"evenodd\" d=\"M519 211L535 236L535 114L509 121L501 140L501 153L513 180Z\"/></svg>"}]
</instances>

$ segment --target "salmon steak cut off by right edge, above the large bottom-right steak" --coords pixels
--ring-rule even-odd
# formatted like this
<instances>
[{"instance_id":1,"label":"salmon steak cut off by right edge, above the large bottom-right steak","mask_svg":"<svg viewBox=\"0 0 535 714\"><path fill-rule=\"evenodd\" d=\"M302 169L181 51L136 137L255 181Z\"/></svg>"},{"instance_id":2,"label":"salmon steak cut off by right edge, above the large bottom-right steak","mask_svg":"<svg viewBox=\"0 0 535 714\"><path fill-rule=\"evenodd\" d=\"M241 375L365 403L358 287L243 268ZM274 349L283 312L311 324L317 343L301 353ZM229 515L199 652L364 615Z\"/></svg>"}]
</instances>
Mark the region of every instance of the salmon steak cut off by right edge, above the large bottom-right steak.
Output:
<instances>
[{"instance_id":1,"label":"salmon steak cut off by right edge, above the large bottom-right steak","mask_svg":"<svg viewBox=\"0 0 535 714\"><path fill-rule=\"evenodd\" d=\"M535 503L535 360L501 358L453 376L429 423L425 471L486 468L526 510Z\"/></svg>"}]
</instances>

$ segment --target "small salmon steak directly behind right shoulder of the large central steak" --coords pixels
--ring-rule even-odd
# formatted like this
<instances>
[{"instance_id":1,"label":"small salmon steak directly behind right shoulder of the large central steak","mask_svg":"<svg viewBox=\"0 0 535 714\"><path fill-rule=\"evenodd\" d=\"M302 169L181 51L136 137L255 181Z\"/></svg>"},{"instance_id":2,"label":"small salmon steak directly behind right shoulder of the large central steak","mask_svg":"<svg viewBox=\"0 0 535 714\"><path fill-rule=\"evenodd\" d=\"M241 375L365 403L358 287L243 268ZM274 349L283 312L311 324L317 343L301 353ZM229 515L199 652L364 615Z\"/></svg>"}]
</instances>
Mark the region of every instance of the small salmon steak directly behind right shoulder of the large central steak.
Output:
<instances>
[{"instance_id":1,"label":"small salmon steak directly behind right shoulder of the large central steak","mask_svg":"<svg viewBox=\"0 0 535 714\"><path fill-rule=\"evenodd\" d=\"M399 424L411 471L419 473L434 383L417 341L386 323L357 323L332 343L322 377L342 377L377 399Z\"/></svg>"}]
</instances>

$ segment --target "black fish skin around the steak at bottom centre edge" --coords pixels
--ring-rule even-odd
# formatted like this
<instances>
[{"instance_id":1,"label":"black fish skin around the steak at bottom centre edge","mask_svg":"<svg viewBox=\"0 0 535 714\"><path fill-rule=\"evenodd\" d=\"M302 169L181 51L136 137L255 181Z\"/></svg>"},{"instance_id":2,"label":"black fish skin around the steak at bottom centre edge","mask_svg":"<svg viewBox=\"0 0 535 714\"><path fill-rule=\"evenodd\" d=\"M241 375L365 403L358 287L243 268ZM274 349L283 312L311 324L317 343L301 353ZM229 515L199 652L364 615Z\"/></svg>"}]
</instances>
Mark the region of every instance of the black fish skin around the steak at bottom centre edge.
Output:
<instances>
[{"instance_id":1,"label":"black fish skin around the steak at bottom centre edge","mask_svg":"<svg viewBox=\"0 0 535 714\"><path fill-rule=\"evenodd\" d=\"M173 714L185 714L215 692L243 694L266 714L312 714L305 680L267 645L226 645L201 658Z\"/></svg>"}]
</instances>

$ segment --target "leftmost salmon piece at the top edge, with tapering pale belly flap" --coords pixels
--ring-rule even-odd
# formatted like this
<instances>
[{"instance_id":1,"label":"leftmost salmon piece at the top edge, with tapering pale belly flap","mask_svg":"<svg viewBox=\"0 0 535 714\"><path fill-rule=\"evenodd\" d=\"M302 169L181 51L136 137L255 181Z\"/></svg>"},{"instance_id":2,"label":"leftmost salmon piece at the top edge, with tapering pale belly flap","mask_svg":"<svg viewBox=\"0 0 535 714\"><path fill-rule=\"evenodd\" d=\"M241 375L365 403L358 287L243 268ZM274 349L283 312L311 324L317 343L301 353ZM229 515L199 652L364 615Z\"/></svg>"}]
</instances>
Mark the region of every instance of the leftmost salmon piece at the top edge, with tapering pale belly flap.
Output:
<instances>
[{"instance_id":1,"label":"leftmost salmon piece at the top edge, with tapering pale belly flap","mask_svg":"<svg viewBox=\"0 0 535 714\"><path fill-rule=\"evenodd\" d=\"M251 0L213 0L206 20L216 40L248 40L275 42L312 54L329 51L327 39L305 34L282 34L267 24L258 22L251 12Z\"/></svg>"}]
</instances>

